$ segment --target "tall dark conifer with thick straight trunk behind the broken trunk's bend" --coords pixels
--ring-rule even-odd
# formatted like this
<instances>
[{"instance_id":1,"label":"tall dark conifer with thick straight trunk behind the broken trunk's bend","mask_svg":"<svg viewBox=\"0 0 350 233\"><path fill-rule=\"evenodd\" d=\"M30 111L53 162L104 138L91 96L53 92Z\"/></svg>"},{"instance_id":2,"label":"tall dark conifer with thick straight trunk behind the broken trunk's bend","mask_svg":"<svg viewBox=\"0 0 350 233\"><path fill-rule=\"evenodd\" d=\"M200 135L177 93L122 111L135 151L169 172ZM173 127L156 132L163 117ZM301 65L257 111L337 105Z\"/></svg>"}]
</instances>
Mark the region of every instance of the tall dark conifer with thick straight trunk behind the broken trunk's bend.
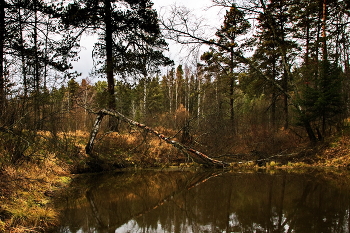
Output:
<instances>
[{"instance_id":1,"label":"tall dark conifer with thick straight trunk behind the broken trunk's bend","mask_svg":"<svg viewBox=\"0 0 350 233\"><path fill-rule=\"evenodd\" d=\"M68 6L63 20L72 27L99 32L95 56L103 64L101 72L106 74L111 109L116 105L115 73L144 74L146 58L165 60L161 51L166 43L149 0L77 0Z\"/></svg>"}]
</instances>

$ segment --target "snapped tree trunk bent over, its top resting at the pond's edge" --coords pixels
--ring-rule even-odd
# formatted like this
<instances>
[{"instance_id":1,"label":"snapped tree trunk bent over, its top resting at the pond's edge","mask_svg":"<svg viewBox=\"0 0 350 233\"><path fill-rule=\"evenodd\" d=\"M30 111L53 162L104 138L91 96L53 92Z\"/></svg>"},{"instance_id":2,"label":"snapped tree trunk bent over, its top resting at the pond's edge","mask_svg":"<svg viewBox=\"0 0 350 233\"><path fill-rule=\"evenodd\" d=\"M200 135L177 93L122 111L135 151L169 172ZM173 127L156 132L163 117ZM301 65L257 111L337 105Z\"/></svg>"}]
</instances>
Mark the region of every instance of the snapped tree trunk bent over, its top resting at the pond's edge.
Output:
<instances>
[{"instance_id":1,"label":"snapped tree trunk bent over, its top resting at the pond's edge","mask_svg":"<svg viewBox=\"0 0 350 233\"><path fill-rule=\"evenodd\" d=\"M141 124L139 122L136 122L134 120L127 118L126 116L124 116L123 114L121 114L117 111L108 110L108 109L102 109L97 113L97 118L96 118L95 124L91 130L88 144L85 147L86 153L88 155L92 155L94 141L95 141L96 135L98 133L98 130L100 128L100 124L101 124L103 117L105 115L118 117L119 119L121 119L122 121L124 121L130 125L136 126L138 128L145 130L146 132L152 133L153 135L157 136L158 138L165 141L166 143L169 143L169 144L173 145L174 147L180 149L184 153L188 154L194 161L196 161L199 164L203 164L204 166L207 166L207 167L226 167L226 166L229 166L229 163L210 158L209 156L203 154L202 152L197 151L193 148L190 148L186 145L183 145L177 141L174 141L171 138L164 136L164 134L161 134L158 131L156 131L156 130L154 130L154 129L152 129L144 124Z\"/></svg>"}]
</instances>

